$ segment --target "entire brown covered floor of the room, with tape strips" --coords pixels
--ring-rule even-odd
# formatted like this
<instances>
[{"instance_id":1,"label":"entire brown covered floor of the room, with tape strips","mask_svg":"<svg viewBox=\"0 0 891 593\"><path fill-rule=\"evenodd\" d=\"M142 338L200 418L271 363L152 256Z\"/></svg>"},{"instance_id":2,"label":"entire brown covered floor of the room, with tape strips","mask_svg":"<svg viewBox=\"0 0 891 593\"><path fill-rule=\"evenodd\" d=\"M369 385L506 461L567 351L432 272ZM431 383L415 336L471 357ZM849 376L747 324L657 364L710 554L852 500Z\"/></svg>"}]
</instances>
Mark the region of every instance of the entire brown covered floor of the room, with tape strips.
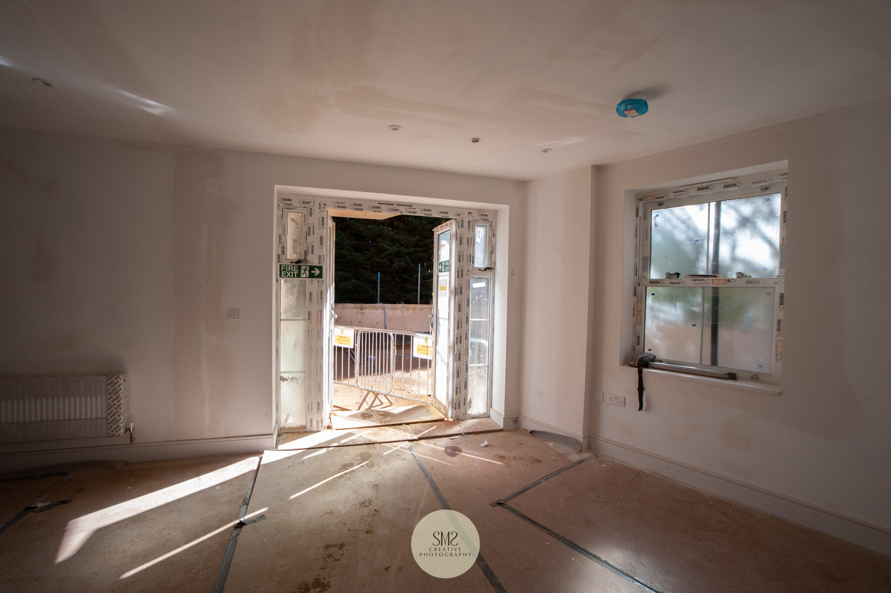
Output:
<instances>
[{"instance_id":1,"label":"entire brown covered floor of the room, with tape strips","mask_svg":"<svg viewBox=\"0 0 891 593\"><path fill-rule=\"evenodd\" d=\"M343 430L266 451L248 508L266 519L241 530L225 590L891 590L888 556L590 451L522 431L416 439L430 427L410 426L386 429L403 436L394 443L347 446L362 435ZM209 591L254 467L230 457L69 476L47 501L71 503L0 533L0 590ZM0 482L0 512L56 480ZM489 575L474 565L441 580L414 563L411 534L441 508L437 491L476 525Z\"/></svg>"}]
</instances>

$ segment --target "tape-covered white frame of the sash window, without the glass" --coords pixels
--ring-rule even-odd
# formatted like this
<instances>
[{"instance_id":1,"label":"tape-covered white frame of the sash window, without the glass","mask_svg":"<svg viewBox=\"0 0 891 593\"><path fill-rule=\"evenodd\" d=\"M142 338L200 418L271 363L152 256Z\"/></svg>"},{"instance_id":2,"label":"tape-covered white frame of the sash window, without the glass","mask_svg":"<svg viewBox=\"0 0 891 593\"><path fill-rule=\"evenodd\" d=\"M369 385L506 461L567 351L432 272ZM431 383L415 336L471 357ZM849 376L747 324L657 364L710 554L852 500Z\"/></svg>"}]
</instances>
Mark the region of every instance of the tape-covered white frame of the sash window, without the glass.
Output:
<instances>
[{"instance_id":1,"label":"tape-covered white frame of the sash window, without the glass","mask_svg":"<svg viewBox=\"0 0 891 593\"><path fill-rule=\"evenodd\" d=\"M770 193L779 193L780 208L780 262L778 275L775 277L752 278L650 278L650 229L654 212L669 207L682 207L691 204L702 204L731 199L752 198ZM748 175L702 182L675 187L667 191L639 194L635 198L635 257L634 257L634 340L633 355L645 353L647 322L646 292L649 287L699 287L699 288L774 288L773 304L773 340L770 368L765 371L752 371L718 367L688 361L674 361L659 358L670 364L692 367L702 370L717 370L736 373L737 378L779 385L782 368L782 330L783 312L785 309L785 275L786 275L786 222L787 201L789 198L788 173L776 171L769 174ZM683 273L682 273L683 275ZM656 353L658 356L658 353ZM680 369L679 369L680 370ZM683 370L680 370L683 372ZM769 371L769 372L768 372Z\"/></svg>"}]
</instances>

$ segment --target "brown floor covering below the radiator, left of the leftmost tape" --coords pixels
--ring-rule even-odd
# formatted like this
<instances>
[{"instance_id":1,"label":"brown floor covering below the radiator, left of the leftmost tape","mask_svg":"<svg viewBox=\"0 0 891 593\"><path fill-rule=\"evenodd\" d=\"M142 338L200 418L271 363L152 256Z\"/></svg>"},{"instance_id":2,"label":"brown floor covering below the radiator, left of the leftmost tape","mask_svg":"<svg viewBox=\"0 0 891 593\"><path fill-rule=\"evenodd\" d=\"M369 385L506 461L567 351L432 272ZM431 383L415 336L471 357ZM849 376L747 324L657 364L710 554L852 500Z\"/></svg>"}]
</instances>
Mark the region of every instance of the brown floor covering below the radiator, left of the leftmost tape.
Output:
<instances>
[{"instance_id":1,"label":"brown floor covering below the radiator, left of the leftmost tape","mask_svg":"<svg viewBox=\"0 0 891 593\"><path fill-rule=\"evenodd\" d=\"M0 590L213 589L257 457L127 466L68 475L46 502L0 534ZM7 521L58 481L6 482ZM134 572L135 571L135 572Z\"/></svg>"}]
</instances>

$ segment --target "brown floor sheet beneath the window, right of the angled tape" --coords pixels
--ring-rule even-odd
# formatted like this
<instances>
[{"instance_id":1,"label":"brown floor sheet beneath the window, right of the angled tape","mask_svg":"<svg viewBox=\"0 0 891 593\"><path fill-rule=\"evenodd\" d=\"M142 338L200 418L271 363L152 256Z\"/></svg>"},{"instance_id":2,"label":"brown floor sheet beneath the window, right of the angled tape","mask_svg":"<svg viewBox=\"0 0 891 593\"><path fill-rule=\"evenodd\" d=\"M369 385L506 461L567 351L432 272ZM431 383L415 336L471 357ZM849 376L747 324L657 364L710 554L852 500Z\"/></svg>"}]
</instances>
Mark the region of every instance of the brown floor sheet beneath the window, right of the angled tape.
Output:
<instances>
[{"instance_id":1,"label":"brown floor sheet beneath the window, right of the angled tape","mask_svg":"<svg viewBox=\"0 0 891 593\"><path fill-rule=\"evenodd\" d=\"M660 591L891 590L891 559L599 457L509 504Z\"/></svg>"}]
</instances>

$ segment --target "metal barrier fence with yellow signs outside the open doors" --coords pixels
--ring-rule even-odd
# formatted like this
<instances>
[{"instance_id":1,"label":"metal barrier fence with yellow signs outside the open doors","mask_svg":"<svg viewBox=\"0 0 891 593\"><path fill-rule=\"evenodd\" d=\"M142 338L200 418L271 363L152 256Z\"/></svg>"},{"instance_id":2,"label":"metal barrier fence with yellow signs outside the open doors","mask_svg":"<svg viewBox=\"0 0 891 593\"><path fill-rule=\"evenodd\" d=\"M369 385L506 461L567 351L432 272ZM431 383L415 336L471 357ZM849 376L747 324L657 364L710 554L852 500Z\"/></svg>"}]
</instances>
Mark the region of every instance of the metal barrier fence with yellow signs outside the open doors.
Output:
<instances>
[{"instance_id":1,"label":"metal barrier fence with yellow signs outside the open doors","mask_svg":"<svg viewBox=\"0 0 891 593\"><path fill-rule=\"evenodd\" d=\"M374 394L369 408L388 395L429 403L433 394L432 345L416 351L414 341L429 344L429 334L392 329L334 328L334 383ZM419 355L420 353L420 355ZM426 355L425 355L426 353Z\"/></svg>"}]
</instances>

